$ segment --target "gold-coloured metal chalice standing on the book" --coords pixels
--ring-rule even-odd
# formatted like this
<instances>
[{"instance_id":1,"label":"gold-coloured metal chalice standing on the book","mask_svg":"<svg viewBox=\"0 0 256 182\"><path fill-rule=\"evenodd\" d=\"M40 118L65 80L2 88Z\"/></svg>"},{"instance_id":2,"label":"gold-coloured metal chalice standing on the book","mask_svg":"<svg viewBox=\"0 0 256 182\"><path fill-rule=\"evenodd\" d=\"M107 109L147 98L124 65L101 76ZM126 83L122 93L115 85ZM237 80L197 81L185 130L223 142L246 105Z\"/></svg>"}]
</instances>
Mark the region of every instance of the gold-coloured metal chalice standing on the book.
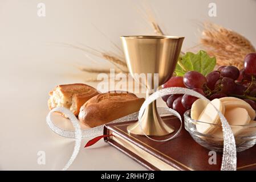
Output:
<instances>
[{"instance_id":1,"label":"gold-coloured metal chalice standing on the book","mask_svg":"<svg viewBox=\"0 0 256 182\"><path fill-rule=\"evenodd\" d=\"M181 36L121 36L129 72L135 81L147 89L147 97L172 77L180 55L184 37ZM141 73L147 75L141 79ZM151 78L148 78L151 75ZM158 77L158 79L156 79ZM141 118L141 126L149 136L164 136L173 133L157 113L153 101ZM144 135L139 122L127 127L129 134Z\"/></svg>"}]
</instances>

